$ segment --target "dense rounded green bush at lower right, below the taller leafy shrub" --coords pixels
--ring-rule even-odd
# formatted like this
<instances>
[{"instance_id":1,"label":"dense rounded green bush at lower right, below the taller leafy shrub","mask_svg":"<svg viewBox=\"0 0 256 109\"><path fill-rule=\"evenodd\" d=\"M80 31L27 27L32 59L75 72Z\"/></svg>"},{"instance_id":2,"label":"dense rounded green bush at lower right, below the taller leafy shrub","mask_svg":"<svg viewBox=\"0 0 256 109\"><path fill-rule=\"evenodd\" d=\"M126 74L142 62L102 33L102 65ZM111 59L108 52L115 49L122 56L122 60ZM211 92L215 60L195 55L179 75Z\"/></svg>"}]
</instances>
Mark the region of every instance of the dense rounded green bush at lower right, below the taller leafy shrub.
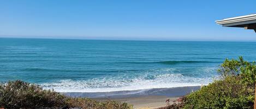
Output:
<instances>
[{"instance_id":1,"label":"dense rounded green bush at lower right, below the taller leafy shrub","mask_svg":"<svg viewBox=\"0 0 256 109\"><path fill-rule=\"evenodd\" d=\"M186 96L183 108L253 108L254 87L229 76Z\"/></svg>"}]
</instances>

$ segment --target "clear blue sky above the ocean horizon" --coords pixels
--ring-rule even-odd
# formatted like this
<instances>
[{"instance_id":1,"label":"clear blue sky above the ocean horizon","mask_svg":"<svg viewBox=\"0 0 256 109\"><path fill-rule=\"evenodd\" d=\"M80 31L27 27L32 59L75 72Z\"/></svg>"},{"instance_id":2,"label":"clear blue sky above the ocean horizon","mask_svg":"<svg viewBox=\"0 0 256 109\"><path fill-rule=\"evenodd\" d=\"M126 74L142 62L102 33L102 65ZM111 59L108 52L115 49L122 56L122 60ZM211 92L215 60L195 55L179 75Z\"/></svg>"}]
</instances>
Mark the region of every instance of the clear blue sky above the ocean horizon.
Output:
<instances>
[{"instance_id":1,"label":"clear blue sky above the ocean horizon","mask_svg":"<svg viewBox=\"0 0 256 109\"><path fill-rule=\"evenodd\" d=\"M0 37L117 40L247 40L227 17L256 14L256 1L0 0Z\"/></svg>"}]
</instances>

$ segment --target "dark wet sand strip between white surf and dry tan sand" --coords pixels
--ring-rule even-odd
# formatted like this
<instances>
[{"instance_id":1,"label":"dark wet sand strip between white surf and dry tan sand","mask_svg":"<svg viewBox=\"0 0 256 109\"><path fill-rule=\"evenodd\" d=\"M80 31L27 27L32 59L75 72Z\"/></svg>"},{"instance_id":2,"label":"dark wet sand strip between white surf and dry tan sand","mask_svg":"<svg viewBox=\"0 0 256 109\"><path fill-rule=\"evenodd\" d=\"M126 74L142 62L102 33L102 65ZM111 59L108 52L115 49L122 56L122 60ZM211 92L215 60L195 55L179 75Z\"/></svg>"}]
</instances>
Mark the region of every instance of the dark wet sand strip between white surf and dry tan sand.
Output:
<instances>
[{"instance_id":1,"label":"dark wet sand strip between white surf and dry tan sand","mask_svg":"<svg viewBox=\"0 0 256 109\"><path fill-rule=\"evenodd\" d=\"M117 99L141 96L166 96L181 97L190 92L197 91L201 86L171 87L171 88L151 88L134 91L114 91L114 92L62 92L69 97L87 97L94 99Z\"/></svg>"}]
</instances>

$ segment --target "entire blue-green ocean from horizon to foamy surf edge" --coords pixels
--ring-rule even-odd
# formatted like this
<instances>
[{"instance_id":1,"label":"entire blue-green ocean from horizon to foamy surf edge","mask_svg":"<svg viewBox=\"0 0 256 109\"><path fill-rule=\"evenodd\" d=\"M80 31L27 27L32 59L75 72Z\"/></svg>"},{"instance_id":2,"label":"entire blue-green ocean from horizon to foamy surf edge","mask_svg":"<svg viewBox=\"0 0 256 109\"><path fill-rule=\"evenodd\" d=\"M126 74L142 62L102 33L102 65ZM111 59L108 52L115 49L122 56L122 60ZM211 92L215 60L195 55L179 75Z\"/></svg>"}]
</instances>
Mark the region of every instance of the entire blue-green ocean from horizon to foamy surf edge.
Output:
<instances>
[{"instance_id":1,"label":"entire blue-green ocean from horizon to foamy surf edge","mask_svg":"<svg viewBox=\"0 0 256 109\"><path fill-rule=\"evenodd\" d=\"M207 85L226 59L256 61L256 42L0 39L0 81L58 92Z\"/></svg>"}]
</instances>

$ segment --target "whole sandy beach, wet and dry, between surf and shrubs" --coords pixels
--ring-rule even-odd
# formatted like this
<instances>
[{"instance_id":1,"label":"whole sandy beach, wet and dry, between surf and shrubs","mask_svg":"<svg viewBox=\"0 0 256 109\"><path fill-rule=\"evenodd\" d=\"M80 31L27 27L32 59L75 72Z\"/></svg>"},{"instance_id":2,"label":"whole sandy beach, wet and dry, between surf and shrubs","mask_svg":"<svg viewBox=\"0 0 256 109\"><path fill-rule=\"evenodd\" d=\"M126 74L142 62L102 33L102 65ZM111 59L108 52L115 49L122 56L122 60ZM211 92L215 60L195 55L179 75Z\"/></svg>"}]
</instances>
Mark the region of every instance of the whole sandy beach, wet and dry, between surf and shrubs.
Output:
<instances>
[{"instance_id":1,"label":"whole sandy beach, wet and dry, between surf and shrubs","mask_svg":"<svg viewBox=\"0 0 256 109\"><path fill-rule=\"evenodd\" d=\"M116 100L132 104L134 108L158 108L166 106L166 100L172 101L179 97L197 91L200 86L173 87L173 88L152 88L135 91L116 92L69 92L64 93L70 97L88 97L99 101Z\"/></svg>"}]
</instances>

